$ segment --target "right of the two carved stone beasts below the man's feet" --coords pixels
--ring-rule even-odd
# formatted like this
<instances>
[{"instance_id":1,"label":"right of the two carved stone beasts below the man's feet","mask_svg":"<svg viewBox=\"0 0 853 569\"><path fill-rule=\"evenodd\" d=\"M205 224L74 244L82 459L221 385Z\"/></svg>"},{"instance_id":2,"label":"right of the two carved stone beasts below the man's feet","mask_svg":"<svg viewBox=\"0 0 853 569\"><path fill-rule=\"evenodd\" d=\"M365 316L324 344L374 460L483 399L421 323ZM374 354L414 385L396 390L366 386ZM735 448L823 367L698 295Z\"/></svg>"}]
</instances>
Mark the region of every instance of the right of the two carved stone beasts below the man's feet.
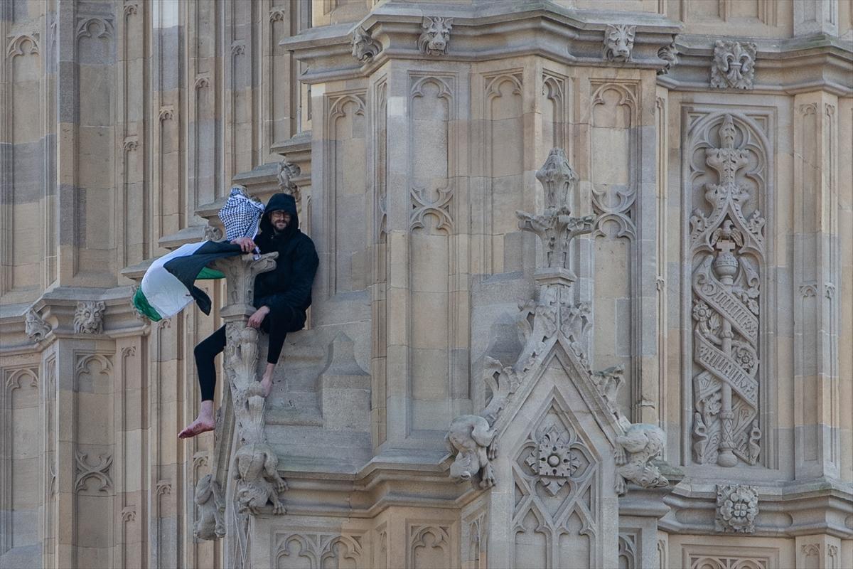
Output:
<instances>
[{"instance_id":1,"label":"right of the two carved stone beasts below the man's feet","mask_svg":"<svg viewBox=\"0 0 853 569\"><path fill-rule=\"evenodd\" d=\"M258 515L260 508L272 503L274 514L285 513L284 504L278 497L279 492L287 490L287 482L278 474L278 457L266 443L247 443L237 450L235 456L237 470L237 502L241 514L248 511Z\"/></svg>"}]
</instances>

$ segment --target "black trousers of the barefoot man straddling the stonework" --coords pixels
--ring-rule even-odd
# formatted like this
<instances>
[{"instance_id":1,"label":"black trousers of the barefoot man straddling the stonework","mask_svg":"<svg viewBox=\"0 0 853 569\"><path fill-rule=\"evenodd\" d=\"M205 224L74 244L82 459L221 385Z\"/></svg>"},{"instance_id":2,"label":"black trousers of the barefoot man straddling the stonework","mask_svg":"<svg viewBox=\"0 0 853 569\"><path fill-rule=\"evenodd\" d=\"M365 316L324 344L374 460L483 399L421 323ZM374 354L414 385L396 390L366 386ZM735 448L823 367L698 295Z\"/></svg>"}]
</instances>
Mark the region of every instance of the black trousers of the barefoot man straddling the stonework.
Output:
<instances>
[{"instance_id":1,"label":"black trousers of the barefoot man straddling the stonework","mask_svg":"<svg viewBox=\"0 0 853 569\"><path fill-rule=\"evenodd\" d=\"M292 309L285 309L284 314L270 311L270 314L264 317L264 322L261 322L261 329L270 334L267 363L278 363L287 333L301 330L303 326L305 326L305 315ZM224 349L224 326L195 346L193 353L195 355L195 368L199 372L202 401L213 400L213 392L216 389L216 366L213 364L213 360Z\"/></svg>"}]
</instances>

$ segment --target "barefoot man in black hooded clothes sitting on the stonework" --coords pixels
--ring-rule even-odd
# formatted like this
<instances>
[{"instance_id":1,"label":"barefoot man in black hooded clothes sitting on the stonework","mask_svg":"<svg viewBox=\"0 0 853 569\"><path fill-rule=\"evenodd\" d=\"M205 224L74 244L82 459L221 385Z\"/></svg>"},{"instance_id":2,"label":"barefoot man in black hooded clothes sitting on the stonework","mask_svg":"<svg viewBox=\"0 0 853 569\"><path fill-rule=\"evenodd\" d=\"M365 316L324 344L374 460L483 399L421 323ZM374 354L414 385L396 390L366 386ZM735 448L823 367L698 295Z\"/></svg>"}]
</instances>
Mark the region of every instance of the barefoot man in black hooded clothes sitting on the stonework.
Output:
<instances>
[{"instance_id":1,"label":"barefoot man in black hooded clothes sitting on the stonework","mask_svg":"<svg viewBox=\"0 0 853 569\"><path fill-rule=\"evenodd\" d=\"M261 218L257 241L241 237L231 242L239 244L245 253L251 253L256 245L261 253L278 253L276 270L261 273L255 279L254 306L258 310L249 316L248 321L252 328L260 328L270 334L267 366L261 380L266 397L272 391L272 374L281 355L285 336L305 326L305 311L311 304L311 285L319 259L314 242L299 231L296 201L287 194L276 194L270 198ZM201 409L195 421L178 433L179 438L194 437L216 427L213 417L216 368L213 359L224 349L224 326L195 346Z\"/></svg>"}]
</instances>

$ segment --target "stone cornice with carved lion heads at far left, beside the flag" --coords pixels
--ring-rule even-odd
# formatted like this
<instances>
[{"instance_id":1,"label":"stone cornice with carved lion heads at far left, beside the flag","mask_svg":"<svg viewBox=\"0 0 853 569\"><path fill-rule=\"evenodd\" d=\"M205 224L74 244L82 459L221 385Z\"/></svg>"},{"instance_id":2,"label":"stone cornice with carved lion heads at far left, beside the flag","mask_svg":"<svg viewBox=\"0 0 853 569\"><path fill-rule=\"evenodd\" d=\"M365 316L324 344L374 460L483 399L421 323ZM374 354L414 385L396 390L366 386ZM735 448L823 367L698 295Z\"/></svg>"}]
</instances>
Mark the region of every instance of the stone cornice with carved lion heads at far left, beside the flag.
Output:
<instances>
[{"instance_id":1,"label":"stone cornice with carved lion heads at far left, beside the flag","mask_svg":"<svg viewBox=\"0 0 853 569\"><path fill-rule=\"evenodd\" d=\"M0 355L44 351L57 339L114 340L125 336L148 334L149 324L136 316L131 307L131 287L50 288L32 305L9 305L0 311ZM103 302L102 334L81 334L74 331L74 313L79 302ZM26 313L32 308L49 327L44 340L36 342L26 335Z\"/></svg>"}]
</instances>

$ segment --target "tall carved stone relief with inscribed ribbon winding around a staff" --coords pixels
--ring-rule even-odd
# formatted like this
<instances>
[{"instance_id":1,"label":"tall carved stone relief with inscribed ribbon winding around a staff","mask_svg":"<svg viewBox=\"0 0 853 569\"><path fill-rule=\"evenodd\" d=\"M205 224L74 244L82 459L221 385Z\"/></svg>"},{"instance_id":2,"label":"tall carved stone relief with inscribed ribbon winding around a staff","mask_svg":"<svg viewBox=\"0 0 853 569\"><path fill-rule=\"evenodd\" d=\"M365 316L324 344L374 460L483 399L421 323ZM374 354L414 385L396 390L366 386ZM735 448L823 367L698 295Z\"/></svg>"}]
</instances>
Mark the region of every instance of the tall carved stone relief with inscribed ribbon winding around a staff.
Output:
<instances>
[{"instance_id":1,"label":"tall carved stone relief with inscribed ribbon winding around a staff","mask_svg":"<svg viewBox=\"0 0 853 569\"><path fill-rule=\"evenodd\" d=\"M757 145L732 115L711 121L694 148L713 175L693 211L693 455L696 462L734 467L760 453L759 285L764 218L754 180L762 162ZM744 171L741 173L741 171ZM747 206L751 207L746 212Z\"/></svg>"}]
</instances>

